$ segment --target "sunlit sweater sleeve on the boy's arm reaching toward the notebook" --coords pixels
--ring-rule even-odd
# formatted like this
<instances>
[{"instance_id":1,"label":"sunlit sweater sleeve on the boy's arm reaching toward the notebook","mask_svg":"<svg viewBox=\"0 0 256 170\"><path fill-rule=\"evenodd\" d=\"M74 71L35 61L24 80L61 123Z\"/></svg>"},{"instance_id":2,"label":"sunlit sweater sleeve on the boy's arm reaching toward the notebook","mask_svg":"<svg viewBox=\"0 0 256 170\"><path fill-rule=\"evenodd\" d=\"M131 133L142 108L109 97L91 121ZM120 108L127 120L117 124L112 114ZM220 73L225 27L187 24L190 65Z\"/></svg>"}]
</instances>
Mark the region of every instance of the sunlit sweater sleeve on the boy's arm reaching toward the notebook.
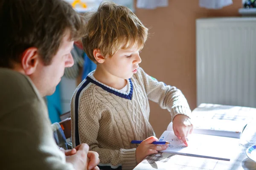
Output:
<instances>
[{"instance_id":1,"label":"sunlit sweater sleeve on the boy's arm reaching toward the notebook","mask_svg":"<svg viewBox=\"0 0 256 170\"><path fill-rule=\"evenodd\" d=\"M136 77L143 83L148 99L157 102L161 108L167 109L171 113L172 120L177 114L191 116L188 102L179 89L158 82L157 79L146 74L142 68L138 69Z\"/></svg>"}]
</instances>

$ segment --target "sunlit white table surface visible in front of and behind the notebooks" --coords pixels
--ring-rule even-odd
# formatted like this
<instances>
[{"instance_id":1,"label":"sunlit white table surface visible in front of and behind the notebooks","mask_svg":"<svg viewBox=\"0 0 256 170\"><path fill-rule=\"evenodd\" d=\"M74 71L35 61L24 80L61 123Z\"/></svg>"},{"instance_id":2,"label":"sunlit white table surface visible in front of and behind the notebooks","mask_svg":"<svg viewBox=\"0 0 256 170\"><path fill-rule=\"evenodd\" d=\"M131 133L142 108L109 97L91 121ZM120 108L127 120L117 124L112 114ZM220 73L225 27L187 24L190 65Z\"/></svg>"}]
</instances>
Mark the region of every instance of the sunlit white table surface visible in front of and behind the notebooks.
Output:
<instances>
[{"instance_id":1,"label":"sunlit white table surface visible in front of and behind the notebooks","mask_svg":"<svg viewBox=\"0 0 256 170\"><path fill-rule=\"evenodd\" d=\"M193 112L214 111L219 115L231 115L232 117L247 116L255 118L256 108L245 108L238 106L204 104ZM172 123L168 128L172 127ZM167 129L168 129L167 128ZM255 130L254 130L255 131ZM227 146L228 147L228 146ZM234 154L230 161L197 158L191 156L173 155L171 153L157 153L147 156L134 170L256 170L256 162L246 156L246 148L237 145L233 148Z\"/></svg>"}]
</instances>

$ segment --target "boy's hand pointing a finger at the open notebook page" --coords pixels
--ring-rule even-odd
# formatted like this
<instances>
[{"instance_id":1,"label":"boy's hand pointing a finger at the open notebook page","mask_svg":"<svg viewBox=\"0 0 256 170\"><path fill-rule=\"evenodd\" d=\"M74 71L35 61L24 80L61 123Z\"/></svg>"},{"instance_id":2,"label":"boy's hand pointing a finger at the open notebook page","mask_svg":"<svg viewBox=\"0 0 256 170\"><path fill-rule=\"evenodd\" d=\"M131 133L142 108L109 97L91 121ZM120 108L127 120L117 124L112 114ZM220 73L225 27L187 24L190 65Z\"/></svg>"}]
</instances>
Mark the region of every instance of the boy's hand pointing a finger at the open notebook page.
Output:
<instances>
[{"instance_id":1,"label":"boy's hand pointing a finger at the open notebook page","mask_svg":"<svg viewBox=\"0 0 256 170\"><path fill-rule=\"evenodd\" d=\"M177 114L172 121L172 128L174 134L188 146L186 136L189 136L193 132L193 125L189 117L183 114Z\"/></svg>"}]
</instances>

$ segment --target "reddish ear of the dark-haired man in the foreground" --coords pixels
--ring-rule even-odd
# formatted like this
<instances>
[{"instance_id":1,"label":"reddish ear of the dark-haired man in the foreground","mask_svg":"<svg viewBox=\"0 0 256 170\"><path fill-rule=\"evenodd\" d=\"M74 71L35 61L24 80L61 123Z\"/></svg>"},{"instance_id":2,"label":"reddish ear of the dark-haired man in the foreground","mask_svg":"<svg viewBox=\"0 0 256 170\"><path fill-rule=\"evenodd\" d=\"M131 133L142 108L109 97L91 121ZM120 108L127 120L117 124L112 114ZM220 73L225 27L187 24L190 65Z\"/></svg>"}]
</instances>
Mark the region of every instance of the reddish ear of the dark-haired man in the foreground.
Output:
<instances>
[{"instance_id":1,"label":"reddish ear of the dark-haired man in the foreground","mask_svg":"<svg viewBox=\"0 0 256 170\"><path fill-rule=\"evenodd\" d=\"M26 75L31 75L35 72L38 62L38 48L31 47L23 52L21 56L21 66Z\"/></svg>"}]
</instances>

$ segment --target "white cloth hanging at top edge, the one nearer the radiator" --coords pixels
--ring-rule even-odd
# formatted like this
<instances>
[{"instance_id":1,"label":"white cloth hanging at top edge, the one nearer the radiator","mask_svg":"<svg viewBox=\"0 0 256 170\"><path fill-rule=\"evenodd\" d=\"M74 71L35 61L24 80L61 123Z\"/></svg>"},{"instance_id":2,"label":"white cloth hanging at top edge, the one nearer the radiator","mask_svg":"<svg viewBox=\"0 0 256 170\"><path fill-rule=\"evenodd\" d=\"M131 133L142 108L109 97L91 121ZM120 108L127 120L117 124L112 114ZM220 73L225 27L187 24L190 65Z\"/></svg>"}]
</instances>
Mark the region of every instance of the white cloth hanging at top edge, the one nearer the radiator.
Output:
<instances>
[{"instance_id":1,"label":"white cloth hanging at top edge, the one nearer the radiator","mask_svg":"<svg viewBox=\"0 0 256 170\"><path fill-rule=\"evenodd\" d=\"M208 9L220 9L233 4L232 0L199 0L199 6Z\"/></svg>"}]
</instances>

